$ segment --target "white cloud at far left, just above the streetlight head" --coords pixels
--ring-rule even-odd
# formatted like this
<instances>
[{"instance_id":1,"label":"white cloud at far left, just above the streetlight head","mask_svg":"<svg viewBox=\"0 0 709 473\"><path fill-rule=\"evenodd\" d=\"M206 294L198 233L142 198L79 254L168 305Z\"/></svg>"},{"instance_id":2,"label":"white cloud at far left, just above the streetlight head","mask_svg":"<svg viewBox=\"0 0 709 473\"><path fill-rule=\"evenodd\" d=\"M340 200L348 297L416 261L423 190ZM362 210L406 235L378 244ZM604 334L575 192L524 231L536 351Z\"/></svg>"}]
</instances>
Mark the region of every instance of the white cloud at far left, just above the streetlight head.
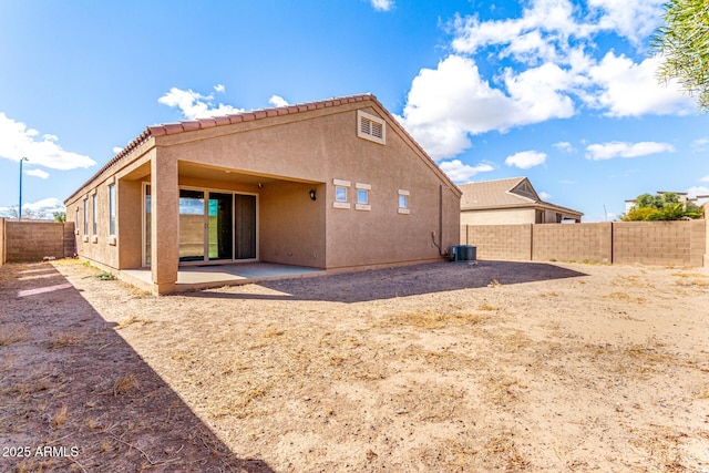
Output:
<instances>
[{"instance_id":1,"label":"white cloud at far left, just above the streetlight head","mask_svg":"<svg viewBox=\"0 0 709 473\"><path fill-rule=\"evenodd\" d=\"M55 135L45 134L39 138L37 130L4 113L0 113L0 156L18 162L24 156L31 164L62 171L96 164L89 156L64 151Z\"/></svg>"}]
</instances>

